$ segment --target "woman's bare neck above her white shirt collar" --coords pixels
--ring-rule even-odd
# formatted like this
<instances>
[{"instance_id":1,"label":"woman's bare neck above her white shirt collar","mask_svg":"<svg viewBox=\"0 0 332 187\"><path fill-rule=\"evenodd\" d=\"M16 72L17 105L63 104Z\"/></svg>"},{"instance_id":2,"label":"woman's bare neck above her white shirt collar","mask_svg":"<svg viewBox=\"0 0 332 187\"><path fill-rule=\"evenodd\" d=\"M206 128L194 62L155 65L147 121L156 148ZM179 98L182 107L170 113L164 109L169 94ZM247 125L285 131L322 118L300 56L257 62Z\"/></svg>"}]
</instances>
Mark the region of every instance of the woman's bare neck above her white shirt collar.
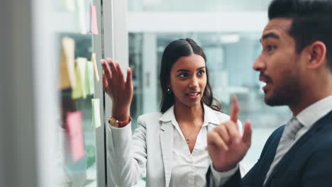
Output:
<instances>
[{"instance_id":1,"label":"woman's bare neck above her white shirt collar","mask_svg":"<svg viewBox=\"0 0 332 187\"><path fill-rule=\"evenodd\" d=\"M177 123L192 123L194 125L204 122L204 108L202 104L189 107L175 103L174 113Z\"/></svg>"}]
</instances>

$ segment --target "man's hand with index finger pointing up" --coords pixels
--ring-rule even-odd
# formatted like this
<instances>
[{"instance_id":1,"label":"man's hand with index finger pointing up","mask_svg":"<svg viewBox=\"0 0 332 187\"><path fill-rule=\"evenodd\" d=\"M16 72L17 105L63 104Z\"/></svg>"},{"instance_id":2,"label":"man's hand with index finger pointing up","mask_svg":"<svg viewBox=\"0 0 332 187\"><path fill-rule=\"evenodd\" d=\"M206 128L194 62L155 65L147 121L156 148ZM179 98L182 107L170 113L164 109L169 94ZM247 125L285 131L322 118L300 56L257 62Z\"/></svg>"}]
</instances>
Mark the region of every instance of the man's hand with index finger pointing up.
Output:
<instances>
[{"instance_id":1,"label":"man's hand with index finger pointing up","mask_svg":"<svg viewBox=\"0 0 332 187\"><path fill-rule=\"evenodd\" d=\"M238 130L240 106L236 96L232 98L231 120L221 123L207 135L208 151L214 169L219 172L236 167L251 145L251 123L245 121L243 135Z\"/></svg>"}]
</instances>

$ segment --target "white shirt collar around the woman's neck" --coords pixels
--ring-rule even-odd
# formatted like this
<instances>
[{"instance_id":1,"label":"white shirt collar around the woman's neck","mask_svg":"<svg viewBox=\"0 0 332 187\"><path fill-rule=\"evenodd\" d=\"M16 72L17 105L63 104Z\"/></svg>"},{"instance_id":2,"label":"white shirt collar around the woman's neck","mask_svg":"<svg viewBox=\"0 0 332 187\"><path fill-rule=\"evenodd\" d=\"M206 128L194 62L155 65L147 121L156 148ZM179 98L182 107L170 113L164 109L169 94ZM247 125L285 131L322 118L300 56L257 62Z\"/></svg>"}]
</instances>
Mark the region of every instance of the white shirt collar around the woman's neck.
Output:
<instances>
[{"instance_id":1,"label":"white shirt collar around the woman's neck","mask_svg":"<svg viewBox=\"0 0 332 187\"><path fill-rule=\"evenodd\" d=\"M209 106L204 106L204 123L203 126L209 125L209 123L213 123L218 125L220 123L220 120L218 120L217 112L214 111ZM165 113L162 114L162 116L159 118L159 120L167 122L172 121L172 124L177 124L177 120L175 119L175 113L174 113L174 106L171 106Z\"/></svg>"}]
</instances>

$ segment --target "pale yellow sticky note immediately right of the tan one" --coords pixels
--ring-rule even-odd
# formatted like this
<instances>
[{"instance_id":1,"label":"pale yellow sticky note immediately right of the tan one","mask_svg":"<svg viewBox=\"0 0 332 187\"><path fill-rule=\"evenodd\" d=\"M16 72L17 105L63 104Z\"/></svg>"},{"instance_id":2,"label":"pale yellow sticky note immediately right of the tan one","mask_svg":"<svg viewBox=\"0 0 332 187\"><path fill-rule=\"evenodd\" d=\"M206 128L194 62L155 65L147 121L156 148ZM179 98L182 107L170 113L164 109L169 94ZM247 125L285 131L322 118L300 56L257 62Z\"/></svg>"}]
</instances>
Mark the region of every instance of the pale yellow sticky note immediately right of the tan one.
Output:
<instances>
[{"instance_id":1,"label":"pale yellow sticky note immediately right of the tan one","mask_svg":"<svg viewBox=\"0 0 332 187\"><path fill-rule=\"evenodd\" d=\"M78 57L76 60L75 75L77 79L77 86L72 89L72 98L87 98L87 90L85 88L87 59Z\"/></svg>"}]
</instances>

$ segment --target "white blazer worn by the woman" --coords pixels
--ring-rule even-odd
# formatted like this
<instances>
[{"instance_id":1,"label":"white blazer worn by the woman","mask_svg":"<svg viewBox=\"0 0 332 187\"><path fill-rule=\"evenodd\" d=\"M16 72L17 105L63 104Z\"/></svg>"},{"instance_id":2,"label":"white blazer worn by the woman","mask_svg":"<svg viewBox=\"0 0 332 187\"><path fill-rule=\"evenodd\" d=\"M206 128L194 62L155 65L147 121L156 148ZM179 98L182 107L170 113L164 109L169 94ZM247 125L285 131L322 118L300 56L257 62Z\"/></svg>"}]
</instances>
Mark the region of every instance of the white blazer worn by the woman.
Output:
<instances>
[{"instance_id":1,"label":"white blazer worn by the woman","mask_svg":"<svg viewBox=\"0 0 332 187\"><path fill-rule=\"evenodd\" d=\"M208 130L229 120L229 116L204 105L204 123ZM111 177L118 187L135 185L146 174L146 186L170 185L172 173L174 106L165 113L146 113L138 117L131 134L131 124L124 128L108 125L107 161ZM238 122L240 128L240 121Z\"/></svg>"}]
</instances>

